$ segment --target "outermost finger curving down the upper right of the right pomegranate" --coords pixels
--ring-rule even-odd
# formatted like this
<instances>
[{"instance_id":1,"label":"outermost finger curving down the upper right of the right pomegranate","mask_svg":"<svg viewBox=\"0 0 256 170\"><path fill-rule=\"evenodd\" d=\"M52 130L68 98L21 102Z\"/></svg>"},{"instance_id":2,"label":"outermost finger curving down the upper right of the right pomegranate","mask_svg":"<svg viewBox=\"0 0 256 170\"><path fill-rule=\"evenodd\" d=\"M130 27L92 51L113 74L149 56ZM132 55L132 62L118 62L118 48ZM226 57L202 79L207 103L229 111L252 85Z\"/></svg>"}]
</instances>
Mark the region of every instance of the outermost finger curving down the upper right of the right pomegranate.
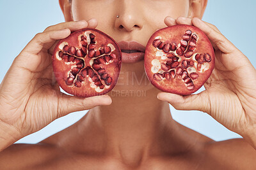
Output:
<instances>
[{"instance_id":1,"label":"outermost finger curving down the upper right of the right pomegranate","mask_svg":"<svg viewBox=\"0 0 256 170\"><path fill-rule=\"evenodd\" d=\"M225 38L223 34L215 31L199 18L193 18L192 23L193 25L204 31L204 33L207 35L207 37L210 39L213 45L216 45L221 50L221 52L232 53L234 52L234 50L236 50L236 46L234 46L230 41L228 41L228 39Z\"/></svg>"}]
</instances>

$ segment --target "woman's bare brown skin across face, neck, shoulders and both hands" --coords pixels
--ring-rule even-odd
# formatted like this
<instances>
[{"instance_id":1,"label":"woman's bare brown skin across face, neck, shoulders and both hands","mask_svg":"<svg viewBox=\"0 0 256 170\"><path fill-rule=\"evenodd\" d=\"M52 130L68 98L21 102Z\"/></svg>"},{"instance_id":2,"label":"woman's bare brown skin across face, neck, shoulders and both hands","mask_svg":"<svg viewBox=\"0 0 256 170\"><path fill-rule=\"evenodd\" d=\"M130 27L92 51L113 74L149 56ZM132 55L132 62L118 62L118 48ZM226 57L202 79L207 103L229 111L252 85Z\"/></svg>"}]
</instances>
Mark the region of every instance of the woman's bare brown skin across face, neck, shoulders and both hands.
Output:
<instances>
[{"instance_id":1,"label":"woman's bare brown skin across face, neck, shoulders and both hands","mask_svg":"<svg viewBox=\"0 0 256 170\"><path fill-rule=\"evenodd\" d=\"M108 10L102 10L98 3ZM202 18L206 4L206 0L194 0L191 4L187 0L73 0L71 6L68 0L61 0L67 23L36 35L14 60L0 85L0 169L255 169L256 152L252 146L256 148L256 89L252 88L256 71L216 27L196 18L191 20ZM175 20L168 15L189 18ZM96 20L90 20L92 17ZM112 103L109 96L82 99L65 96L58 90L51 76L51 51L56 39L67 37L70 31L97 26L116 41L135 40L146 45L150 35L165 24L195 25L211 40L216 50L216 68L205 83L204 92L192 96L159 93L145 77L143 61L123 64L118 85L109 93ZM243 59L244 67L226 66L230 57ZM244 77L244 71L250 73L250 78ZM139 82L132 79L132 74ZM251 87L250 95L246 87ZM131 89L145 90L147 95L130 93L124 97ZM210 103L200 102L209 97ZM244 99L248 99L246 105ZM179 110L205 111L244 139L215 142L175 122L164 101ZM225 106L221 105L223 101ZM58 117L90 108L79 122L36 145L12 145Z\"/></svg>"}]
</instances>

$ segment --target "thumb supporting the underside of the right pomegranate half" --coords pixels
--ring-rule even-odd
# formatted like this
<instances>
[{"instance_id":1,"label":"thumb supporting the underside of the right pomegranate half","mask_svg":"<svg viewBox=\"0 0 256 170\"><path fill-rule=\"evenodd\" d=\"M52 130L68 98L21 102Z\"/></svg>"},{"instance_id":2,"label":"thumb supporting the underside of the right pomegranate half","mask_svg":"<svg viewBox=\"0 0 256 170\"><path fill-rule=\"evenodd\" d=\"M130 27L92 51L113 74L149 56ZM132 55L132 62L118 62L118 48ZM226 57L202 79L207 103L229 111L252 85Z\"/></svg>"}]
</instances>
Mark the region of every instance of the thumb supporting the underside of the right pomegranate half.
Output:
<instances>
[{"instance_id":1,"label":"thumb supporting the underside of the right pomegranate half","mask_svg":"<svg viewBox=\"0 0 256 170\"><path fill-rule=\"evenodd\" d=\"M206 113L209 113L211 110L209 96L205 91L201 92L200 94L191 94L187 96L159 92L157 98L161 101L167 101L176 110L199 110Z\"/></svg>"}]
</instances>

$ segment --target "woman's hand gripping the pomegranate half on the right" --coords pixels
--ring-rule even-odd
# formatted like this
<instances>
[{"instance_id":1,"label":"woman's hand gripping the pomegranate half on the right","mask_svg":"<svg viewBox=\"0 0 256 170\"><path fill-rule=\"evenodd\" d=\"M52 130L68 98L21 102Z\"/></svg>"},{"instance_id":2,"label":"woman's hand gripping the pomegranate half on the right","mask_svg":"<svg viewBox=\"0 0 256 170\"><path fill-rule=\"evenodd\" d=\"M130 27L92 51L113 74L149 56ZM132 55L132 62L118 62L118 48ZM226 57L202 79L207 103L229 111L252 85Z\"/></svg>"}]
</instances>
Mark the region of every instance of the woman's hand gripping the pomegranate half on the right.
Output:
<instances>
[{"instance_id":1,"label":"woman's hand gripping the pomegranate half on the right","mask_svg":"<svg viewBox=\"0 0 256 170\"><path fill-rule=\"evenodd\" d=\"M166 17L164 22L168 26L194 25L204 31L214 47L216 64L203 92L188 96L160 92L157 97L177 110L204 111L231 131L252 140L256 135L256 70L250 60L214 25L199 18Z\"/></svg>"}]
</instances>

